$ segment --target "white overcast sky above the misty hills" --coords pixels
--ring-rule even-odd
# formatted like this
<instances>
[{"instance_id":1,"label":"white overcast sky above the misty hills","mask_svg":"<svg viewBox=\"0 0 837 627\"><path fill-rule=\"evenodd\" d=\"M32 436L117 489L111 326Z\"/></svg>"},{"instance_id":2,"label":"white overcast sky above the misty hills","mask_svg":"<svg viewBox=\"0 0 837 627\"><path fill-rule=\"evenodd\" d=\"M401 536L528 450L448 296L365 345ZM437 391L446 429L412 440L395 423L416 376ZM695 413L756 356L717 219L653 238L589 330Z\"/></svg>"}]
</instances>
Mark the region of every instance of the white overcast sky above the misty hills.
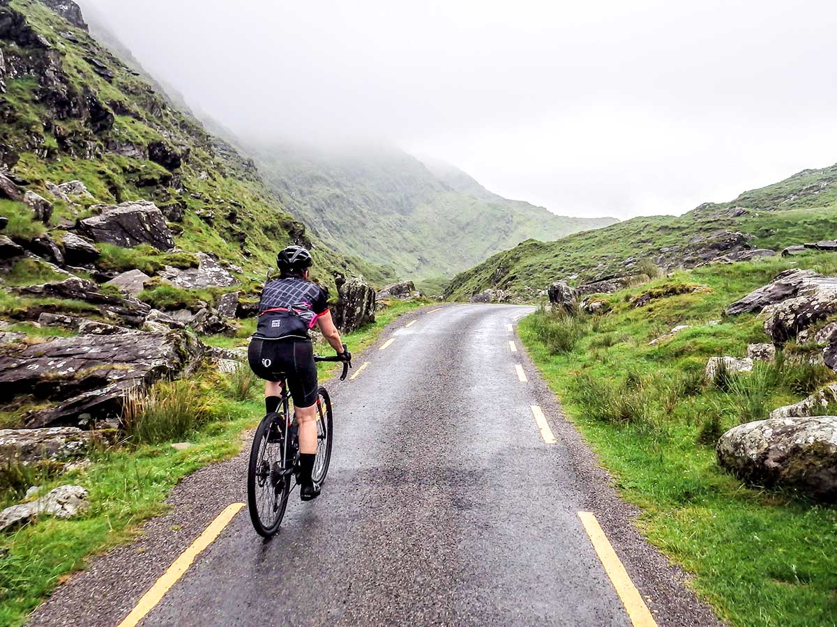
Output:
<instances>
[{"instance_id":1,"label":"white overcast sky above the misty hills","mask_svg":"<svg viewBox=\"0 0 837 627\"><path fill-rule=\"evenodd\" d=\"M837 3L79 0L242 136L387 141L574 216L837 161Z\"/></svg>"}]
</instances>

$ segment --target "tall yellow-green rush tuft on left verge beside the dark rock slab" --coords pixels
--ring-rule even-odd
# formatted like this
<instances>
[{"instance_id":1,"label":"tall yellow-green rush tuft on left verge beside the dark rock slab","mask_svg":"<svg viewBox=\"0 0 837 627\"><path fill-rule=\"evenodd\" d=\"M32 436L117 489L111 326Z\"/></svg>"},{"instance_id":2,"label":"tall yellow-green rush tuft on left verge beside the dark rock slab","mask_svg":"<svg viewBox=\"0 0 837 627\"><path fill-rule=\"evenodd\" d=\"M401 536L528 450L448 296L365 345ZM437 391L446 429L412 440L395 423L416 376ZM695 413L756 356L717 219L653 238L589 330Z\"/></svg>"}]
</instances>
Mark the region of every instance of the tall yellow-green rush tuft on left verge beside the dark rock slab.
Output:
<instances>
[{"instance_id":1,"label":"tall yellow-green rush tuft on left verge beside the dark rock slab","mask_svg":"<svg viewBox=\"0 0 837 627\"><path fill-rule=\"evenodd\" d=\"M134 388L125 399L122 421L135 445L182 440L208 421L209 407L194 381L158 383L147 395Z\"/></svg>"}]
</instances>

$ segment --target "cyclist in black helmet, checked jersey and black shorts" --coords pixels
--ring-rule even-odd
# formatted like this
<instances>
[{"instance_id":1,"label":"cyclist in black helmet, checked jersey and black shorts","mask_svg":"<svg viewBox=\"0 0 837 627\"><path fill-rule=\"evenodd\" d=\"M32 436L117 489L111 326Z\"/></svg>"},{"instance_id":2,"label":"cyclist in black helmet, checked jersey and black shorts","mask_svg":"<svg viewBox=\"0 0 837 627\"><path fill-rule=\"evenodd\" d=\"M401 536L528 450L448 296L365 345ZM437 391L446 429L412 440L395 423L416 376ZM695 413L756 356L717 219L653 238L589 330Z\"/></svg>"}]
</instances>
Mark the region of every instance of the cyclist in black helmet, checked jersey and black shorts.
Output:
<instances>
[{"instance_id":1,"label":"cyclist in black helmet, checked jersey and black shorts","mask_svg":"<svg viewBox=\"0 0 837 627\"><path fill-rule=\"evenodd\" d=\"M250 368L264 385L264 407L268 413L279 409L282 389L280 373L285 373L294 400L300 438L300 497L311 501L320 496L320 486L311 480L316 460L317 385L314 349L309 330L316 325L342 361L352 354L343 347L340 332L328 310L328 292L311 283L311 252L289 246L276 257L280 277L264 285L259 302L259 324L250 340Z\"/></svg>"}]
</instances>

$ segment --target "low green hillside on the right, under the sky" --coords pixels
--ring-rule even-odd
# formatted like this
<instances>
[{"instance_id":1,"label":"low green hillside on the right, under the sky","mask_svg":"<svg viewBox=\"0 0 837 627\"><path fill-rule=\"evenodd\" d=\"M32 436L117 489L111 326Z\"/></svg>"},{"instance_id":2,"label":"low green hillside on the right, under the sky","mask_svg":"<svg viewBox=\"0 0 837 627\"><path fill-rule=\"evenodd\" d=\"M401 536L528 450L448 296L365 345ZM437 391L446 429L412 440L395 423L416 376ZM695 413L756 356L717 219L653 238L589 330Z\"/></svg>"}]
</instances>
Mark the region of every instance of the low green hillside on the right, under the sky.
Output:
<instances>
[{"instance_id":1,"label":"low green hillside on the right, under the sky","mask_svg":"<svg viewBox=\"0 0 837 627\"><path fill-rule=\"evenodd\" d=\"M696 265L690 261L692 252L719 233L735 232L741 232L750 247L777 251L837 237L837 166L805 170L680 217L637 217L555 242L528 240L460 273L446 295L470 298L494 288L534 298L552 281L584 283L623 276L643 260L662 268L691 267Z\"/></svg>"}]
</instances>

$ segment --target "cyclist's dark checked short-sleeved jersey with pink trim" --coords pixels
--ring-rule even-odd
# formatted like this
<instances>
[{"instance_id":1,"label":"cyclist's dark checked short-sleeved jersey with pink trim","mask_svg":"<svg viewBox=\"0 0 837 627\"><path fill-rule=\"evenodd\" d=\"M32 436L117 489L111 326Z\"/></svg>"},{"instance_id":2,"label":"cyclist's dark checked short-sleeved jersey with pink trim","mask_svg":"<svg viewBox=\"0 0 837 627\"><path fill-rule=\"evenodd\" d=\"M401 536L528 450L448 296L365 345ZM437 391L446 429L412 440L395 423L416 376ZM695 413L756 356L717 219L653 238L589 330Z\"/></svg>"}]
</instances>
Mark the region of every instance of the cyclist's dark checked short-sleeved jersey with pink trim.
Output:
<instances>
[{"instance_id":1,"label":"cyclist's dark checked short-sleeved jersey with pink trim","mask_svg":"<svg viewBox=\"0 0 837 627\"><path fill-rule=\"evenodd\" d=\"M277 278L262 290L258 339L310 340L308 333L328 311L328 293L304 278Z\"/></svg>"}]
</instances>

